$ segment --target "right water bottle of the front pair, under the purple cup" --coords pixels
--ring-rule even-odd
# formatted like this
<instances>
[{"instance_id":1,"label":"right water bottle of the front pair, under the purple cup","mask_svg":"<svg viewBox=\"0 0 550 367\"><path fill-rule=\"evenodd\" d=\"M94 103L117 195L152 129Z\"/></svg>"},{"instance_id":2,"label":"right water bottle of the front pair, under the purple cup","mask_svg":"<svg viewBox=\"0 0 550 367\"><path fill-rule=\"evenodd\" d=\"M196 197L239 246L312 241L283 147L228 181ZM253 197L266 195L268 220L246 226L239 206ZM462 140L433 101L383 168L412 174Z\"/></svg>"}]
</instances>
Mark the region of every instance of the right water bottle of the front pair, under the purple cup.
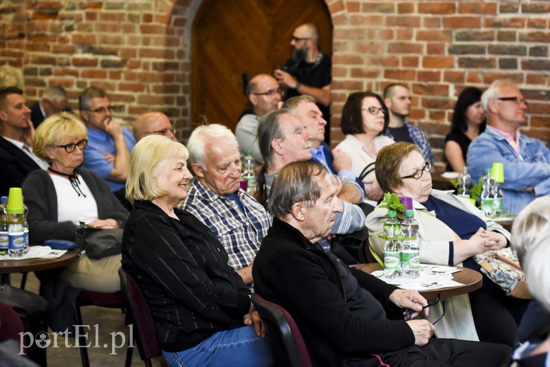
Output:
<instances>
[{"instance_id":1,"label":"right water bottle of the front pair, under the purple cup","mask_svg":"<svg viewBox=\"0 0 550 367\"><path fill-rule=\"evenodd\" d=\"M401 273L407 278L420 276L420 246L418 241L418 222L414 210L406 210L401 223Z\"/></svg>"}]
</instances>

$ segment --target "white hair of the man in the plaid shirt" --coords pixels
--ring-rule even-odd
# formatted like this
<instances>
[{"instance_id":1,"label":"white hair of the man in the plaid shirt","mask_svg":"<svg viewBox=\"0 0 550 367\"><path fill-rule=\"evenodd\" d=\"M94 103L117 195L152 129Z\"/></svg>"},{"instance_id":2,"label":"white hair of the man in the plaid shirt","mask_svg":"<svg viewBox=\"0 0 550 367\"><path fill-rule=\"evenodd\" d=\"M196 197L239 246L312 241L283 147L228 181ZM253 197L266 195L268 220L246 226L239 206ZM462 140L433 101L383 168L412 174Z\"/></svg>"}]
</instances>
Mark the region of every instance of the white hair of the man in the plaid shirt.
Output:
<instances>
[{"instance_id":1,"label":"white hair of the man in the plaid shirt","mask_svg":"<svg viewBox=\"0 0 550 367\"><path fill-rule=\"evenodd\" d=\"M187 150L189 151L189 162L191 164L196 163L201 168L206 168L204 164L204 147L208 144L208 140L225 138L229 142L239 146L239 142L236 141L235 135L228 129L227 126L221 124L208 124L198 126L189 137L187 141Z\"/></svg>"}]
</instances>

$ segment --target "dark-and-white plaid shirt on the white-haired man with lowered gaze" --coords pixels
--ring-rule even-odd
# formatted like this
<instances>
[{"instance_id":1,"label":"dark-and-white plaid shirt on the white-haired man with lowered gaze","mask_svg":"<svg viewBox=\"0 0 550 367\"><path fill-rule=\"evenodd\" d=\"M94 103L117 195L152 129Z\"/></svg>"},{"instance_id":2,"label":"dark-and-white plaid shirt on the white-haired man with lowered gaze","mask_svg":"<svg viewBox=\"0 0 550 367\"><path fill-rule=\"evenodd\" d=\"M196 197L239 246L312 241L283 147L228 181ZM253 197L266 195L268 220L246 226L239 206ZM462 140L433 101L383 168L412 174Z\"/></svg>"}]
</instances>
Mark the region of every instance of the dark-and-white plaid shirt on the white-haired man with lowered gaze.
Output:
<instances>
[{"instance_id":1,"label":"dark-and-white plaid shirt on the white-haired man with lowered gaze","mask_svg":"<svg viewBox=\"0 0 550 367\"><path fill-rule=\"evenodd\" d=\"M252 265L272 217L249 194L239 189L244 212L232 199L219 196L197 179L193 180L183 208L210 227L229 255L235 270Z\"/></svg>"}]
</instances>

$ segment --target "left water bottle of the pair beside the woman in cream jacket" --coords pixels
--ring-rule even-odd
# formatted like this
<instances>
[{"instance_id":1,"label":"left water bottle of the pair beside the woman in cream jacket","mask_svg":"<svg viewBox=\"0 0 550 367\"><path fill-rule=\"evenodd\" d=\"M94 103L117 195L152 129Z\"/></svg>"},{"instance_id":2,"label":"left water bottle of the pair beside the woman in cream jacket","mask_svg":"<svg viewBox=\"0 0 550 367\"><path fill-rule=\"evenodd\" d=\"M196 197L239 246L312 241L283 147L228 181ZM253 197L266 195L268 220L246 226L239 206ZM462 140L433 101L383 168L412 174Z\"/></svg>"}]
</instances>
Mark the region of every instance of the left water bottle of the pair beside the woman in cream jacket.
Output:
<instances>
[{"instance_id":1,"label":"left water bottle of the pair beside the woman in cream jacket","mask_svg":"<svg viewBox=\"0 0 550 367\"><path fill-rule=\"evenodd\" d=\"M401 275L401 225L395 210L388 210L388 220L384 223L384 276L396 278Z\"/></svg>"}]
</instances>

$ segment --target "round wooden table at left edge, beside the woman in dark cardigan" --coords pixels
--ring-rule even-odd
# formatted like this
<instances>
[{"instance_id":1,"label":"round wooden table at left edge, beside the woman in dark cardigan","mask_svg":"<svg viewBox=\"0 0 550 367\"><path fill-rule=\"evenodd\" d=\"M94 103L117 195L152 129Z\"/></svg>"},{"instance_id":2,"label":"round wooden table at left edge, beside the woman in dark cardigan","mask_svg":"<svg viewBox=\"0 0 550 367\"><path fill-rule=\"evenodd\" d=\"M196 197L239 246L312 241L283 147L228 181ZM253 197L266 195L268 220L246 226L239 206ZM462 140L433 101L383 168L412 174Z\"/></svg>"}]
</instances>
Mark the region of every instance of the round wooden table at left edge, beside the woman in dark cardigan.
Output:
<instances>
[{"instance_id":1,"label":"round wooden table at left edge, beside the woman in dark cardigan","mask_svg":"<svg viewBox=\"0 0 550 367\"><path fill-rule=\"evenodd\" d=\"M39 271L64 267L72 263L80 254L79 249L69 249L59 258L25 258L13 260L0 260L0 285L10 282L12 273L28 273L29 271Z\"/></svg>"}]
</instances>

